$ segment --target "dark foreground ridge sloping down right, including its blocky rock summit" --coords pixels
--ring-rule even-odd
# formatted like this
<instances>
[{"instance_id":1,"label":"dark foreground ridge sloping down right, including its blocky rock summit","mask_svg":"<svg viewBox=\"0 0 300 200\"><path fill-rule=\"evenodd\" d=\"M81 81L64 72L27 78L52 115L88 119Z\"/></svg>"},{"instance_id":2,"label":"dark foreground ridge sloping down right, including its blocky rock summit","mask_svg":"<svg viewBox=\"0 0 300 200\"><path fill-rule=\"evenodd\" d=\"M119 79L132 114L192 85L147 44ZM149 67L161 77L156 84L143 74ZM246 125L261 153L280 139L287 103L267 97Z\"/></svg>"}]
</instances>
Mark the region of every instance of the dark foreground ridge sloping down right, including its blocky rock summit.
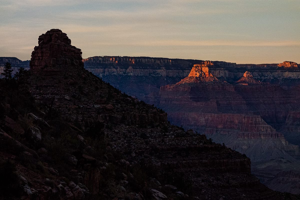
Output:
<instances>
[{"instance_id":1,"label":"dark foreground ridge sloping down right, including its blocky rock summit","mask_svg":"<svg viewBox=\"0 0 300 200\"><path fill-rule=\"evenodd\" d=\"M25 75L1 80L3 199L297 199L261 184L246 156L85 70L59 29L39 37Z\"/></svg>"}]
</instances>

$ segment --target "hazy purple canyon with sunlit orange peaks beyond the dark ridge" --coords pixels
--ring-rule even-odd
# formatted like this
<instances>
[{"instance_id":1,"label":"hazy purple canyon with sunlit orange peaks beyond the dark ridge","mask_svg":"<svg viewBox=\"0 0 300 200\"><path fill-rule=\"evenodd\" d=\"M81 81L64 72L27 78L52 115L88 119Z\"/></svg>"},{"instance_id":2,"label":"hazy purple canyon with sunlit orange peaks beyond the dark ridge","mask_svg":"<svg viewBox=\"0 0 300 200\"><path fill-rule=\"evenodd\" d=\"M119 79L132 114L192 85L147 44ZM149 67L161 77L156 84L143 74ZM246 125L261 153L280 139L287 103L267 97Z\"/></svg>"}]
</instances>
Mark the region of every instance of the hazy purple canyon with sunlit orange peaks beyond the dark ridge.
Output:
<instances>
[{"instance_id":1,"label":"hazy purple canyon with sunlit orange peaks beyond the dark ridge","mask_svg":"<svg viewBox=\"0 0 300 200\"><path fill-rule=\"evenodd\" d=\"M126 58L92 57L84 63L121 91L167 111L171 123L246 154L252 172L268 187L300 192L279 181L299 173L297 63Z\"/></svg>"}]
</instances>

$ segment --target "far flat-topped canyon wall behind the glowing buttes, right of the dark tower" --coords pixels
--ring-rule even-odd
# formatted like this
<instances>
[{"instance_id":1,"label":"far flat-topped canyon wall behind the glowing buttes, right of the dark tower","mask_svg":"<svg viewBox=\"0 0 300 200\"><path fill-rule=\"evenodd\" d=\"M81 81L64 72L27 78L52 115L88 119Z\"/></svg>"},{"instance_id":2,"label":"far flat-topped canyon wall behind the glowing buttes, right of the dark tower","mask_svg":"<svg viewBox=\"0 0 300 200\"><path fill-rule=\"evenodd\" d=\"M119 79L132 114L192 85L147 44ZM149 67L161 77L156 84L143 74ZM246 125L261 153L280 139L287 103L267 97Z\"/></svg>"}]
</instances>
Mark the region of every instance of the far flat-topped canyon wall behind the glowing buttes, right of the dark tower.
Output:
<instances>
[{"instance_id":1,"label":"far flat-topped canyon wall behind the glowing buttes, right of the dark tower","mask_svg":"<svg viewBox=\"0 0 300 200\"><path fill-rule=\"evenodd\" d=\"M85 68L116 88L133 96L144 98L167 84L175 84L189 75L194 64L201 60L95 56L83 60ZM294 67L289 67L294 66ZM271 82L290 87L300 78L297 63L281 64L236 64L223 61L203 61L201 67L222 81L238 81L245 71L261 82ZM131 90L134 88L134 90Z\"/></svg>"}]
</instances>

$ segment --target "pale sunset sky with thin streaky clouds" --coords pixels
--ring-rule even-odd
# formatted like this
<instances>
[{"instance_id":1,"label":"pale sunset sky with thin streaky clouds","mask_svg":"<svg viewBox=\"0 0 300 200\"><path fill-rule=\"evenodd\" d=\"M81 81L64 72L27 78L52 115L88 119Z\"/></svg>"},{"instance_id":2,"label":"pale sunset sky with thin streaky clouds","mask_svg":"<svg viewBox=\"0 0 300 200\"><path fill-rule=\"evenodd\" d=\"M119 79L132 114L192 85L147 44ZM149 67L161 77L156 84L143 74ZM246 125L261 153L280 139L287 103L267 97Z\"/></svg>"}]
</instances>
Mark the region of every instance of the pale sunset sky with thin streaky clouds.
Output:
<instances>
[{"instance_id":1,"label":"pale sunset sky with thin streaky clouds","mask_svg":"<svg viewBox=\"0 0 300 200\"><path fill-rule=\"evenodd\" d=\"M300 0L1 0L0 56L58 28L82 57L300 63Z\"/></svg>"}]
</instances>

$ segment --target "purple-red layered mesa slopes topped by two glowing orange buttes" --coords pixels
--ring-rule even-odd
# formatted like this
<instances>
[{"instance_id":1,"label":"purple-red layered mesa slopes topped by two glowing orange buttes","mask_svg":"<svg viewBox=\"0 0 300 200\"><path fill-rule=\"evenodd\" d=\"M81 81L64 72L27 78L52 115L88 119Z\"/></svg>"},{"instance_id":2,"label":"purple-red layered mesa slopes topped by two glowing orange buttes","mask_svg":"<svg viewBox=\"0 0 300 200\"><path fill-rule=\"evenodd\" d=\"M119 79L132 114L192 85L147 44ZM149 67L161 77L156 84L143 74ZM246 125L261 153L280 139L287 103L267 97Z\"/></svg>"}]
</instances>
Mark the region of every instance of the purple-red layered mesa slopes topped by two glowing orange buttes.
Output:
<instances>
[{"instance_id":1,"label":"purple-red layered mesa slopes topped by two glowing orange buttes","mask_svg":"<svg viewBox=\"0 0 300 200\"><path fill-rule=\"evenodd\" d=\"M296 145L289 144L283 135L297 132L298 115L292 112L298 110L297 88L260 82L248 71L236 82L207 79L213 75L198 73L203 69L200 65L194 65L189 76L178 83L162 86L159 93L148 95L147 102L166 110L172 123L205 133L215 142L246 154L252 160L253 173L269 187L298 193L275 186L272 178L264 178L265 167L258 167L268 165L270 159L279 163L288 160L284 168L268 165L272 177L279 172L297 171L298 143L290 135L289 142ZM282 127L286 127L285 132Z\"/></svg>"}]
</instances>

